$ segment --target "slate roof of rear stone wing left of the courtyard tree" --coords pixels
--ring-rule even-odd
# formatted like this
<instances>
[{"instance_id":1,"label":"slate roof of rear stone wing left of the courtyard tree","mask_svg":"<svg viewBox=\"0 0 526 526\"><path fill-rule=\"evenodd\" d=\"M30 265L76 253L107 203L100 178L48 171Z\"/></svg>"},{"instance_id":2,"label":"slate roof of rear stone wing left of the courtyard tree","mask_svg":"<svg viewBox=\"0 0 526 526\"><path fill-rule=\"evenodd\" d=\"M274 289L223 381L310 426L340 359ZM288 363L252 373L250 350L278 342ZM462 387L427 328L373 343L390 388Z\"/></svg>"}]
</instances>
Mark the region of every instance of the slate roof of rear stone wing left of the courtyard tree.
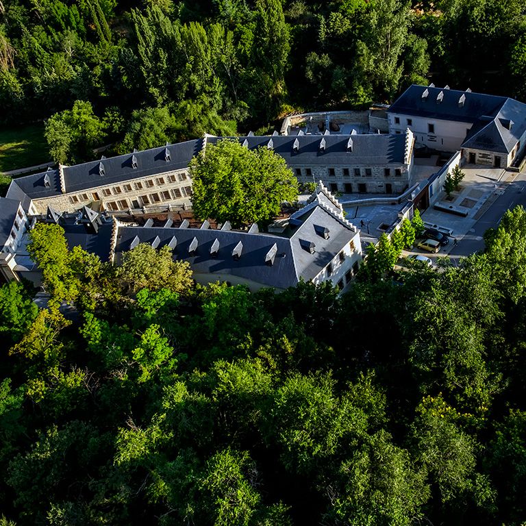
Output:
<instances>
[{"instance_id":1,"label":"slate roof of rear stone wing left of the courtyard tree","mask_svg":"<svg viewBox=\"0 0 526 526\"><path fill-rule=\"evenodd\" d=\"M192 157L201 150L202 143L201 139L187 140L175 145L136 151L126 155L76 164L75 166L64 166L66 192L79 192L96 186L118 184L130 179L187 168ZM166 160L166 149L170 153L169 160ZM104 175L101 175L101 163L103 164ZM134 168L134 164L136 168ZM49 187L45 186L46 175L49 178ZM14 188L11 188L12 186ZM12 181L8 190L9 197L16 195L16 199L22 201L20 190L31 199L60 195L62 188L59 171L51 170L27 175L27 177L19 177Z\"/></svg>"}]
</instances>

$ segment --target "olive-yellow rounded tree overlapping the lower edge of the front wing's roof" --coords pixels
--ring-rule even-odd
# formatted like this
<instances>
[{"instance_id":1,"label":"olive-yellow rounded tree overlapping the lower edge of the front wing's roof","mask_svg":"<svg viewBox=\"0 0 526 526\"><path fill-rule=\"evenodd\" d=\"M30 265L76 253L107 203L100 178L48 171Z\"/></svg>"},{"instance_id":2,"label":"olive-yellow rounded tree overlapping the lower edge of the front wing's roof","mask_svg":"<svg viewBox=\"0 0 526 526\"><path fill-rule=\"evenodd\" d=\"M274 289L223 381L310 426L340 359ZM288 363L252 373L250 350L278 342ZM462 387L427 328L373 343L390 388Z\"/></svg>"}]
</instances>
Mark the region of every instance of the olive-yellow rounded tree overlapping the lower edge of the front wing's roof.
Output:
<instances>
[{"instance_id":1,"label":"olive-yellow rounded tree overlapping the lower edge of the front wing's roof","mask_svg":"<svg viewBox=\"0 0 526 526\"><path fill-rule=\"evenodd\" d=\"M166 245L154 249L148 243L123 253L117 275L131 292L142 288L187 292L193 282L188 262L174 261L172 250Z\"/></svg>"}]
</instances>

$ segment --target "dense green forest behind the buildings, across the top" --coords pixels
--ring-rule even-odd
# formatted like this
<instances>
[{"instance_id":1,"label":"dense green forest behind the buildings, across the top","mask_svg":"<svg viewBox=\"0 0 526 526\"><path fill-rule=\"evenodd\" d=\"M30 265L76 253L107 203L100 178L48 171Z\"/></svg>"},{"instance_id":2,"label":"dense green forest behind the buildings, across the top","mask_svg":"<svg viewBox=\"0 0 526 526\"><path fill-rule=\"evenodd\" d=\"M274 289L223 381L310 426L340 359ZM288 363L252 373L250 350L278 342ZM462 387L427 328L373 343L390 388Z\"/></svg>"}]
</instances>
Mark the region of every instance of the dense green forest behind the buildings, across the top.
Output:
<instances>
[{"instance_id":1,"label":"dense green forest behind the buildings, across the top","mask_svg":"<svg viewBox=\"0 0 526 526\"><path fill-rule=\"evenodd\" d=\"M60 162L264 132L411 83L525 99L525 75L523 0L0 1L0 121L49 119Z\"/></svg>"}]
</instances>

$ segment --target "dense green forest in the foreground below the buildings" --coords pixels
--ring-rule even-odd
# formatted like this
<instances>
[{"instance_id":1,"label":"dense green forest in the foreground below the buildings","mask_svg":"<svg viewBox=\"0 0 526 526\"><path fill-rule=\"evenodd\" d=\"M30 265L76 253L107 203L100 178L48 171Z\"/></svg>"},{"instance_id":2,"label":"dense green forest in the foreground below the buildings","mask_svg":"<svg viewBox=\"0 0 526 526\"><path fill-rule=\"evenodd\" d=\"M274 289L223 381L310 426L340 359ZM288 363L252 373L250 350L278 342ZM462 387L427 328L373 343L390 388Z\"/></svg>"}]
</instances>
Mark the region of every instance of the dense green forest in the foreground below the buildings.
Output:
<instances>
[{"instance_id":1,"label":"dense green forest in the foreground below the buildings","mask_svg":"<svg viewBox=\"0 0 526 526\"><path fill-rule=\"evenodd\" d=\"M30 238L51 298L0 288L1 525L524 523L522 208L458 267L342 296Z\"/></svg>"}]
</instances>

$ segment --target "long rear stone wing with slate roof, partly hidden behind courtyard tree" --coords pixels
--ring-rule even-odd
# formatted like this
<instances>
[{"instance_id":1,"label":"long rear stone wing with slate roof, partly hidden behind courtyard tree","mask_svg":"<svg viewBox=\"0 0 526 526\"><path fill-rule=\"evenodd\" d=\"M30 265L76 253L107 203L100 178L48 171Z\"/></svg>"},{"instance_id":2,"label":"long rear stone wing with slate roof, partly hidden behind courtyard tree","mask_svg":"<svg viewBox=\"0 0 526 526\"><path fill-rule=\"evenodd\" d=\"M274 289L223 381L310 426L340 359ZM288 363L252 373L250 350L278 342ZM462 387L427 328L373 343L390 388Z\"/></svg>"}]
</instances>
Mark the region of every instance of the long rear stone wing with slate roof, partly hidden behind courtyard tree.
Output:
<instances>
[{"instance_id":1,"label":"long rear stone wing with slate roof, partly hidden behind courtyard tree","mask_svg":"<svg viewBox=\"0 0 526 526\"><path fill-rule=\"evenodd\" d=\"M14 179L7 197L21 201L30 214L48 207L73 212L140 210L161 205L190 205L190 160L207 144L205 136L127 155ZM379 134L323 136L247 136L248 148L266 147L281 155L302 182L322 180L332 192L394 193L408 188L413 137Z\"/></svg>"}]
</instances>

